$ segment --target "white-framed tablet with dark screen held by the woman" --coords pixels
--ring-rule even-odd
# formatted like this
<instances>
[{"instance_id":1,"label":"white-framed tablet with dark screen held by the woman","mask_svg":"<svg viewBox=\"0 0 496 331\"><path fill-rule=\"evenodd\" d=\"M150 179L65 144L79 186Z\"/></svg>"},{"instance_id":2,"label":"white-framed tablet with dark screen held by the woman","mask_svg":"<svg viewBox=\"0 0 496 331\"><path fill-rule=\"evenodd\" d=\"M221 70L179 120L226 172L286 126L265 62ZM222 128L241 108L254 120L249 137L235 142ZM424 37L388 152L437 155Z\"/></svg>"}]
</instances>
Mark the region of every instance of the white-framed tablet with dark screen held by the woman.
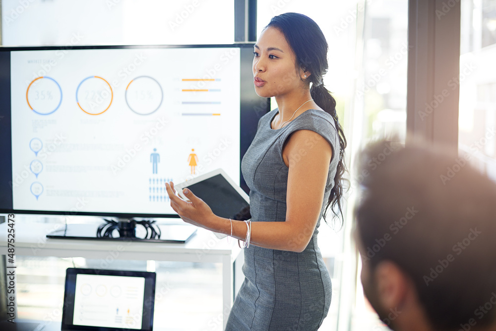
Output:
<instances>
[{"instance_id":1,"label":"white-framed tablet with dark screen held by the woman","mask_svg":"<svg viewBox=\"0 0 496 331\"><path fill-rule=\"evenodd\" d=\"M195 196L205 201L217 216L240 221L251 218L248 195L222 169L216 169L174 187L180 197L186 200L183 189L187 187ZM214 233L218 238L226 237L225 234Z\"/></svg>"}]
</instances>

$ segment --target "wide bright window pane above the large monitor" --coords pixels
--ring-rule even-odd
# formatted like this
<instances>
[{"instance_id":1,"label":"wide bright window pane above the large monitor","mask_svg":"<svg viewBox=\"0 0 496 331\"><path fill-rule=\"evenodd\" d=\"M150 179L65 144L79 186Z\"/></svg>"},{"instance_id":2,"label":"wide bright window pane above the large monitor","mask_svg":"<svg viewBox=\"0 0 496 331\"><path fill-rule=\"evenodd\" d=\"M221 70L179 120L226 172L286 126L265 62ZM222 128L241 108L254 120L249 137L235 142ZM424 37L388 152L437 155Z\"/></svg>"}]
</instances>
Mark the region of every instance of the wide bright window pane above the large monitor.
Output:
<instances>
[{"instance_id":1,"label":"wide bright window pane above the large monitor","mask_svg":"<svg viewBox=\"0 0 496 331\"><path fill-rule=\"evenodd\" d=\"M234 0L3 0L2 45L232 44Z\"/></svg>"}]
</instances>

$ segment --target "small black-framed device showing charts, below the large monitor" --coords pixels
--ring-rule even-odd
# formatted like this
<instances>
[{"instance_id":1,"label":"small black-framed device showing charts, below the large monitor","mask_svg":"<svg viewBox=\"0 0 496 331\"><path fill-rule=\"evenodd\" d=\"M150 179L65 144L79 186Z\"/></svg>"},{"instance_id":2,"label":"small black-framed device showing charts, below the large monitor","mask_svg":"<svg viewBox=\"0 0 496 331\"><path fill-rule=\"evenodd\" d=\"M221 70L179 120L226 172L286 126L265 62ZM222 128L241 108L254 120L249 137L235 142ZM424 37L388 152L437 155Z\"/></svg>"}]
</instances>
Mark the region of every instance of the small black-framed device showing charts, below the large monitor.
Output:
<instances>
[{"instance_id":1,"label":"small black-framed device showing charts, below the large monitor","mask_svg":"<svg viewBox=\"0 0 496 331\"><path fill-rule=\"evenodd\" d=\"M62 330L152 331L155 272L67 268Z\"/></svg>"}]
</instances>

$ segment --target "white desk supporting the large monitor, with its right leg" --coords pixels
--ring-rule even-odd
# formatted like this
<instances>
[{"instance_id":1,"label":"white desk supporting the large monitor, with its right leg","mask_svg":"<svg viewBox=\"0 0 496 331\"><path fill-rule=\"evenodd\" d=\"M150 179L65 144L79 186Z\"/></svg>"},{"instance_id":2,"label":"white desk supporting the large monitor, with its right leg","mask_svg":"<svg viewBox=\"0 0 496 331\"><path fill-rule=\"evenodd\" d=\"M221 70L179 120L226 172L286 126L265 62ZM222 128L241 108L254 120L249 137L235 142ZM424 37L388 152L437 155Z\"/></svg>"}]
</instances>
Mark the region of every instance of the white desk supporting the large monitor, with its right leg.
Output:
<instances>
[{"instance_id":1,"label":"white desk supporting the large monitor, with its right leg","mask_svg":"<svg viewBox=\"0 0 496 331\"><path fill-rule=\"evenodd\" d=\"M237 241L228 244L212 232L200 229L186 244L122 242L106 240L48 239L46 234L63 224L33 223L27 217L15 215L15 255L51 256L59 258L156 260L222 263L223 325L234 298L234 261L241 249ZM0 255L7 254L7 222L0 224Z\"/></svg>"}]
</instances>

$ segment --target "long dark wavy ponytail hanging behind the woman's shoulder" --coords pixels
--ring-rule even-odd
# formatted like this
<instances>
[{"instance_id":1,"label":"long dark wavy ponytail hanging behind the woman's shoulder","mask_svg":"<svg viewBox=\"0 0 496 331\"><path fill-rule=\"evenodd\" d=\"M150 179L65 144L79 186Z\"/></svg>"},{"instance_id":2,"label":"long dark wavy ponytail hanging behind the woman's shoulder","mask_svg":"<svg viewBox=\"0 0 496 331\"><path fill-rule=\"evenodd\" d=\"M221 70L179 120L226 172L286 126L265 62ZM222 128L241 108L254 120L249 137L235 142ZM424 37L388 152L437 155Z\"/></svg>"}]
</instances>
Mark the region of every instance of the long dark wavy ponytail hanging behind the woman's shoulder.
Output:
<instances>
[{"instance_id":1,"label":"long dark wavy ponytail hanging behind the woman's shoulder","mask_svg":"<svg viewBox=\"0 0 496 331\"><path fill-rule=\"evenodd\" d=\"M339 124L338 115L336 114L336 100L331 96L330 92L324 87L324 84L320 83L318 85L312 84L310 88L310 95L313 101L322 108L326 113L332 116L334 119L334 126L339 137L339 161L336 168L336 175L334 176L334 186L331 190L329 199L324 209L324 220L327 215L327 209L331 206L334 216L339 219L341 216L341 222L339 223L338 229L343 226L343 210L341 209L341 199L343 197L344 182L347 180L343 178L346 172L346 165L344 163L344 149L346 148L346 138L344 136L343 128ZM336 153L336 148L334 148L334 153ZM333 157L336 157L334 155ZM325 220L327 223L327 220ZM335 225L335 222L332 222Z\"/></svg>"}]
</instances>

